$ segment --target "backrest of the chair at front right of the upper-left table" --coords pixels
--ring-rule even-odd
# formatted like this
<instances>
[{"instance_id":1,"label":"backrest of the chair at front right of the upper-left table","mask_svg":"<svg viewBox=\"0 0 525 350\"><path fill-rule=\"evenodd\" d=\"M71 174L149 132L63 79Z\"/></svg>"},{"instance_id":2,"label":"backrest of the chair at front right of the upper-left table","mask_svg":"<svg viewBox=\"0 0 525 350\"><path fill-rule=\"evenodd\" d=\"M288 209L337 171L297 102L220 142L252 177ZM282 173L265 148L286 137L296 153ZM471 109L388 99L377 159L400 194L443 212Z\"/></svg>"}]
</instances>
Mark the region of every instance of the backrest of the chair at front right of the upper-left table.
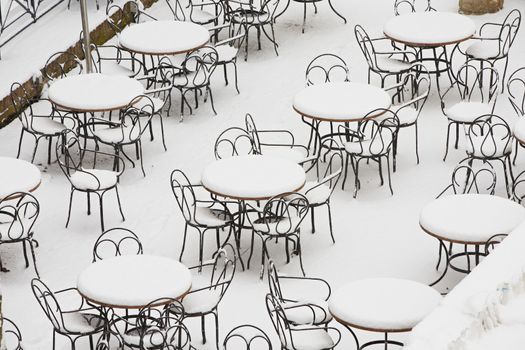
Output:
<instances>
[{"instance_id":1,"label":"backrest of the chair at front right of the upper-left table","mask_svg":"<svg viewBox=\"0 0 525 350\"><path fill-rule=\"evenodd\" d=\"M204 87L210 83L210 78L217 67L219 56L211 46L204 46L188 53L182 66L191 75L186 75L188 84L195 87Z\"/></svg>"}]
</instances>

